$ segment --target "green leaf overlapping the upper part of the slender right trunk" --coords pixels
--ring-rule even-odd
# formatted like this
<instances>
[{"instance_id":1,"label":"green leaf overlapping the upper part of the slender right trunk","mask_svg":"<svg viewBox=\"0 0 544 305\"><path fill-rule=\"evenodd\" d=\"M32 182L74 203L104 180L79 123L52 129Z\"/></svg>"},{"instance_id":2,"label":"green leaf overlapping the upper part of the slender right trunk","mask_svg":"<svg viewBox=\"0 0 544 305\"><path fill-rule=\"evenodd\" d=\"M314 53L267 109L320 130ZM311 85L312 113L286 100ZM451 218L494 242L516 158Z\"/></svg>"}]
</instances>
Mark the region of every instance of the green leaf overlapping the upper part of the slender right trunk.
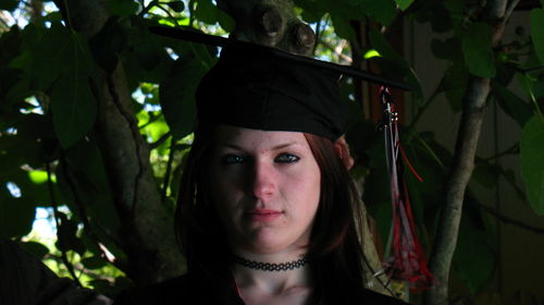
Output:
<instances>
[{"instance_id":1,"label":"green leaf overlapping the upper part of the slender right trunk","mask_svg":"<svg viewBox=\"0 0 544 305\"><path fill-rule=\"evenodd\" d=\"M473 75L484 78L495 77L496 68L491 37L492 29L485 23L471 24L462 37L465 63Z\"/></svg>"}]
</instances>

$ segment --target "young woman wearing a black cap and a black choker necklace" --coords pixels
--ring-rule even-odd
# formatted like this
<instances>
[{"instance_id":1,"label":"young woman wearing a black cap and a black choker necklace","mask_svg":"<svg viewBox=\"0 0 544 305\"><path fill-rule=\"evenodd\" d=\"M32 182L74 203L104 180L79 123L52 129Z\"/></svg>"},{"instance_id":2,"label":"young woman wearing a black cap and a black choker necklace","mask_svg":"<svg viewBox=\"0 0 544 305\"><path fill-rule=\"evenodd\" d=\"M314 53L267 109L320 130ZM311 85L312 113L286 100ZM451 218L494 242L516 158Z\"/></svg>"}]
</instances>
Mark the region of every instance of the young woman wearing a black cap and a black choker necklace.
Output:
<instances>
[{"instance_id":1,"label":"young woman wearing a black cap and a black choker necklace","mask_svg":"<svg viewBox=\"0 0 544 305\"><path fill-rule=\"evenodd\" d=\"M187 273L122 301L401 304L363 288L338 77L260 49L222 50L197 91L175 215Z\"/></svg>"}]
</instances>

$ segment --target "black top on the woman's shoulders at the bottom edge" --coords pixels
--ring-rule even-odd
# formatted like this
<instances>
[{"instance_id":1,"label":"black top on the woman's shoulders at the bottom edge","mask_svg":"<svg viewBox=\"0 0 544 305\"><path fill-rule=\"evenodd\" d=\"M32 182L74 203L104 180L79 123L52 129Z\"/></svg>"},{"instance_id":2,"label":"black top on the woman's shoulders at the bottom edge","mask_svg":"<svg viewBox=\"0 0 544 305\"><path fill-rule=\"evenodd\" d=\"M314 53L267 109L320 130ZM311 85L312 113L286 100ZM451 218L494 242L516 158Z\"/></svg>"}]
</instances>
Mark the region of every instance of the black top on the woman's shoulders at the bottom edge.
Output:
<instances>
[{"instance_id":1,"label":"black top on the woman's shoulders at the bottom edge","mask_svg":"<svg viewBox=\"0 0 544 305\"><path fill-rule=\"evenodd\" d=\"M362 290L362 296L363 303L360 304L406 304L397 298L364 289ZM236 289L234 285L213 288L210 282L205 282L203 280L190 276L182 276L144 289L133 289L124 291L114 303L114 305L143 304L244 305L245 303L236 293ZM341 305L341 303L335 303L335 305L336 304Z\"/></svg>"}]
</instances>

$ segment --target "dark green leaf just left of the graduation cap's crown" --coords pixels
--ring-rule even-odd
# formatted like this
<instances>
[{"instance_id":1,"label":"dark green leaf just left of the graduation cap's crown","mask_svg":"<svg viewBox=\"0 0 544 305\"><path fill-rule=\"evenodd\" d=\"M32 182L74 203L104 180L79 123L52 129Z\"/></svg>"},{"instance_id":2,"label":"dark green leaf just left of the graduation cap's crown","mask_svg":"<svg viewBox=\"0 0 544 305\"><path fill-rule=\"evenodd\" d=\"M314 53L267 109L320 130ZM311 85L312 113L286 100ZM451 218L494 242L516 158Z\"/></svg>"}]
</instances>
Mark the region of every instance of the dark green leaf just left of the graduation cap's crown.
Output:
<instances>
[{"instance_id":1,"label":"dark green leaf just left of the graduation cap's crown","mask_svg":"<svg viewBox=\"0 0 544 305\"><path fill-rule=\"evenodd\" d=\"M186 136L194 127L195 93L206 72L207 68L201 61L180 58L160 84L161 107L174 138ZM184 89L181 90L180 86Z\"/></svg>"}]
</instances>

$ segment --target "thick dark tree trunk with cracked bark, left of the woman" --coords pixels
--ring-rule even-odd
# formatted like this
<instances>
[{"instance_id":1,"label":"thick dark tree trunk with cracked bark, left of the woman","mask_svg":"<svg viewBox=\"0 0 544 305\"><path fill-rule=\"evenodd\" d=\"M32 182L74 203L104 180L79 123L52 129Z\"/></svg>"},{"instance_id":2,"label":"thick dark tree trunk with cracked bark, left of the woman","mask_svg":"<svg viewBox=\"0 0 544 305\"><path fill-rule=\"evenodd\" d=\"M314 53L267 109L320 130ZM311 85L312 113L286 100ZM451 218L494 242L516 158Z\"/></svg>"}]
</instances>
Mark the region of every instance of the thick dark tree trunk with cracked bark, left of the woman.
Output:
<instances>
[{"instance_id":1,"label":"thick dark tree trunk with cracked bark, left of the woman","mask_svg":"<svg viewBox=\"0 0 544 305\"><path fill-rule=\"evenodd\" d=\"M104 1L69 1L72 27L92 37L109 19ZM94 134L98 139L113 203L121 221L110 232L126 253L129 277L139 284L158 282L183 272L173 218L161 203L153 179L149 148L141 137L126 76L121 63L111 73L101 72L99 112Z\"/></svg>"}]
</instances>

